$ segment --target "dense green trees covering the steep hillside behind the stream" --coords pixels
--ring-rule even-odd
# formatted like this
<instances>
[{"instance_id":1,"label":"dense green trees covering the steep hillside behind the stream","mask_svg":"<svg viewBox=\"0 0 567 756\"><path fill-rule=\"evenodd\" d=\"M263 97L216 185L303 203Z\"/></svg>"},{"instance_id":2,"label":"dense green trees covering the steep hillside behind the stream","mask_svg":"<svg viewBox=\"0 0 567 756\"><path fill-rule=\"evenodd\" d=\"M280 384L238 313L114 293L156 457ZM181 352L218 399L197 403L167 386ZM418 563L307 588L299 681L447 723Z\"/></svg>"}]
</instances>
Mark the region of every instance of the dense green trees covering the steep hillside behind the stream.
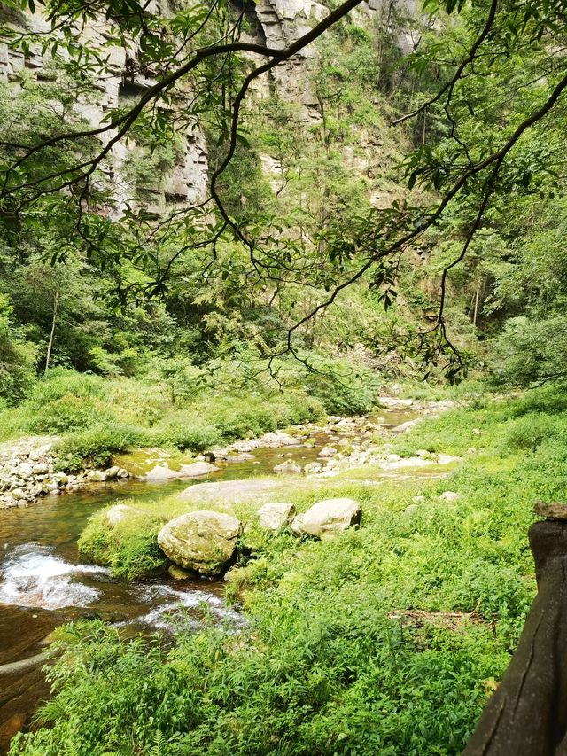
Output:
<instances>
[{"instance_id":1,"label":"dense green trees covering the steep hillside behind the stream","mask_svg":"<svg viewBox=\"0 0 567 756\"><path fill-rule=\"evenodd\" d=\"M438 12L433 5L428 10ZM209 373L219 360L229 370L235 359L287 353L315 368L321 367L316 355L347 355L394 379L423 375L423 359L434 380L447 370L450 376L485 371L507 385L563 378L563 101L553 119L535 121L514 144L491 180L478 223L480 179L467 183L431 225L427 209L443 200L462 160L482 160L502 133L545 105L563 60L549 57L547 35L559 44L563 27L536 2L526 5L524 26L522 3L502 7L480 58L486 70L455 83L448 103L441 98L425 106L451 82L447 61L458 61L465 41L472 44L483 28L484 9L462 5L443 31L425 28L407 58L398 49L408 28L400 12L341 19L317 41L315 64L299 82L311 93L317 120L306 121L302 106L276 87L250 99L241 114L242 138L229 144L234 155L215 191L252 247L214 210L206 223L214 240L207 245L198 208L186 208L183 217L179 208L164 214L152 204L155 176L169 175L183 152L181 115L169 126L148 116L132 127L129 144L136 149L123 168L128 212L116 213L106 163L86 188L77 178L79 206L47 182L46 167L73 176L73 158L89 160L98 144L89 136L72 143L71 152L63 141L43 154L38 142L59 138L62 122L71 134L85 129L78 103L97 103L104 58L80 65L81 45L71 32L70 60L56 55L41 80L23 69L3 83L5 144L31 144L35 152L26 158L4 146L0 400L19 403L38 374L53 367L144 381L156 368L184 370L179 357ZM187 24L200 23L199 9ZM54 6L52 12L63 11ZM210 35L214 24L231 22L228 8L219 13ZM447 18L440 13L439 19ZM130 17L118 14L113 22L123 34L139 31ZM247 17L239 22L250 24ZM12 40L14 50L25 44L18 35ZM170 52L152 32L139 55L161 55L163 63ZM249 63L238 58L235 66L227 81L216 69L203 75L218 74L226 92L237 88ZM219 97L212 90L198 109L211 170L222 163L231 117ZM392 127L412 108L415 122ZM12 168L14 160L24 160L27 170ZM26 182L43 187L33 200ZM403 255L392 257L384 247L383 257L390 225L400 233L408 223L426 231ZM377 267L357 277L365 261ZM357 280L341 289L328 313L318 309L352 276ZM285 346L290 329L291 349ZM334 370L327 366L327 372ZM357 411L355 405L345 411Z\"/></svg>"}]
</instances>

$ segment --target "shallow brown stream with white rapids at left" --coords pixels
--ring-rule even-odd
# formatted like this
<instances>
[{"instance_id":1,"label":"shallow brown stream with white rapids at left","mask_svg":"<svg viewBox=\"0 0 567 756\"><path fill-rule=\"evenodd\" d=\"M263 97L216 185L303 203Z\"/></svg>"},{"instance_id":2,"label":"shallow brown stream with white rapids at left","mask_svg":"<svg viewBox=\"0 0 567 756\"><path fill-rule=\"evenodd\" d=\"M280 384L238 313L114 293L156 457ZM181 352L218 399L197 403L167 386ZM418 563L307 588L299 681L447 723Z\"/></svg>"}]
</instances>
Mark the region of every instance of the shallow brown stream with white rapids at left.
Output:
<instances>
[{"instance_id":1,"label":"shallow brown stream with white rapids at left","mask_svg":"<svg viewBox=\"0 0 567 756\"><path fill-rule=\"evenodd\" d=\"M386 430L416 414L408 409L384 410L380 425ZM319 429L309 438L312 448L258 448L253 460L218 463L221 469L206 480L272 474L283 453L285 459L307 464L315 461L323 446L341 437ZM204 604L219 622L236 626L245 622L224 604L219 579L127 582L114 579L103 567L82 564L79 558L77 539L97 510L124 497L151 500L203 481L114 481L0 511L0 754L6 752L13 734L28 726L31 713L49 694L42 666L46 638L56 627L80 617L100 617L131 635L172 632L175 612L183 613L184 627L198 627Z\"/></svg>"}]
</instances>

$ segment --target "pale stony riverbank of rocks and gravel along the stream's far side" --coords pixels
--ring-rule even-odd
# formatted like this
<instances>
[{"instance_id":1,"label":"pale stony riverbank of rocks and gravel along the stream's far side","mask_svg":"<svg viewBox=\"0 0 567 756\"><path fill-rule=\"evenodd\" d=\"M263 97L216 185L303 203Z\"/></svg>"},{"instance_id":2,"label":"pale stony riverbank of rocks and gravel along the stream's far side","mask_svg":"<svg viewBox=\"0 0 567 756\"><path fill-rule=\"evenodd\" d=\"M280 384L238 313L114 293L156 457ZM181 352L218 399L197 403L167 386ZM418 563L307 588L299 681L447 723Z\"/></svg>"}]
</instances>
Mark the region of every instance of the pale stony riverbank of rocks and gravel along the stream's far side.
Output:
<instances>
[{"instance_id":1,"label":"pale stony riverbank of rocks and gravel along the stream's far side","mask_svg":"<svg viewBox=\"0 0 567 756\"><path fill-rule=\"evenodd\" d=\"M377 407L401 413L400 432L408 430L421 417L431 417L455 406L454 401L415 401L379 397ZM406 419L403 413L407 412ZM301 423L287 428L285 432L270 431L256 438L236 440L222 448L212 447L206 455L180 451L177 448L117 448L120 454L105 457L108 467L81 467L77 469L75 456L66 451L71 439L58 436L31 436L0 444L0 510L15 506L27 506L44 495L72 493L85 487L127 480L130 477L145 480L175 478L206 479L220 468L211 460L229 464L252 460L251 452L258 448L315 448L321 440L327 445L322 456L311 461L311 467L291 463L283 451L280 472L304 472L333 474L333 471L348 466L377 462L377 440L384 430L395 424L396 418L386 422L376 413L361 417L331 416L326 423ZM245 434L250 436L252 430ZM338 444L338 446L336 446ZM289 455L288 455L289 456ZM95 458L91 455L90 458ZM84 462L89 456L81 456ZM395 459L384 458L392 467ZM398 460L399 461L399 460ZM422 458L416 464L428 464ZM395 466L395 465L393 465ZM304 470L304 468L306 468ZM276 472L278 472L276 470Z\"/></svg>"}]
</instances>

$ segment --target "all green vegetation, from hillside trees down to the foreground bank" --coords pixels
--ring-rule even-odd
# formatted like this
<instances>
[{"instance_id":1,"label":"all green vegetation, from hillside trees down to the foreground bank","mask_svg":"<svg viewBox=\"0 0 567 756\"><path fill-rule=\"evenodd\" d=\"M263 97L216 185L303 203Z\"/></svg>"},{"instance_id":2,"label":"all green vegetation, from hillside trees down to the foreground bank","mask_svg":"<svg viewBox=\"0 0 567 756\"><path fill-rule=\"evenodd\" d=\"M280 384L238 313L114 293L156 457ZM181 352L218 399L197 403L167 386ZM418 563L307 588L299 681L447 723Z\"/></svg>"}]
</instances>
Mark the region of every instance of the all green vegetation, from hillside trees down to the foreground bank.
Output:
<instances>
[{"instance_id":1,"label":"all green vegetation, from hillside trees down to the foreground bank","mask_svg":"<svg viewBox=\"0 0 567 756\"><path fill-rule=\"evenodd\" d=\"M456 754L501 678L534 592L532 503L567 484L567 8L426 0L408 27L395 5L328 4L295 82L306 117L277 78L244 99L260 71L247 5L164 19L50 0L52 31L22 34L35 4L0 4L12 53L49 58L0 83L0 440L57 434L78 470L368 412L394 382L448 395L469 375L485 397L395 442L462 455L448 479L376 486L366 468L286 490L299 511L361 502L361 528L332 542L267 535L235 504L245 629L171 647L61 630L44 726L13 756ZM85 41L101 15L104 39ZM85 115L116 47L136 72L99 128L124 129L121 162ZM164 186L196 123L210 197L179 202ZM136 578L186 506L147 504L113 534L94 518L81 548Z\"/></svg>"}]
</instances>

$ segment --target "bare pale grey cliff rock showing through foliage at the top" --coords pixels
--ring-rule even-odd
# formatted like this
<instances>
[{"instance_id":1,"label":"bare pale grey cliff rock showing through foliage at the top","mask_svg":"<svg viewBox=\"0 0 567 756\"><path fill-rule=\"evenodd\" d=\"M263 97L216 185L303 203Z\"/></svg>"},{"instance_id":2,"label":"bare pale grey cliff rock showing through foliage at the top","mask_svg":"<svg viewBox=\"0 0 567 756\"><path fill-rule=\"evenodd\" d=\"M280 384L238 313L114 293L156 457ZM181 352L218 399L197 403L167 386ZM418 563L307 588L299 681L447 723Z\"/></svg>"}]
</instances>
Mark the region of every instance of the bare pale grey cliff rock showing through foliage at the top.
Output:
<instances>
[{"instance_id":1,"label":"bare pale grey cliff rock showing through foliage at the top","mask_svg":"<svg viewBox=\"0 0 567 756\"><path fill-rule=\"evenodd\" d=\"M411 18L417 13L417 0L369 0L353 12L353 17L361 25L385 25L387 27L395 14ZM246 8L248 18L252 20L252 33L248 37L256 43L266 43L269 47L281 49L299 39L328 12L327 6L315 0L259 0ZM9 19L19 27L29 31L47 31L48 25L39 13ZM403 27L402 27L403 29ZM398 30L398 44L403 51L414 46L410 28ZM105 35L103 25L91 26L85 31L91 39ZM154 81L151 77L137 73L136 49L125 50L112 47L110 53L110 71L97 82L97 97L77 102L77 110L93 127L98 126L105 113L117 107L131 105ZM299 103L302 118L306 122L320 121L318 103L309 86L310 73L313 70L317 52L310 46L300 51L294 58L286 61L255 83L252 97L268 97L277 93L283 100ZM258 58L260 60L260 58ZM52 78L52 61L43 58L39 50L32 50L28 56L11 51L0 43L0 81L17 82L23 69L28 75L41 82ZM112 138L113 132L107 132L103 141ZM113 183L116 199L120 206L132 196L131 180L124 169L128 158L136 155L136 144L127 140L113 147L114 168ZM167 171L155 175L144 185L144 205L154 212L161 212L167 207L194 203L206 196L208 163L206 140L196 124L190 133L185 133L175 154L175 165ZM140 189L138 186L137 189Z\"/></svg>"}]
</instances>

